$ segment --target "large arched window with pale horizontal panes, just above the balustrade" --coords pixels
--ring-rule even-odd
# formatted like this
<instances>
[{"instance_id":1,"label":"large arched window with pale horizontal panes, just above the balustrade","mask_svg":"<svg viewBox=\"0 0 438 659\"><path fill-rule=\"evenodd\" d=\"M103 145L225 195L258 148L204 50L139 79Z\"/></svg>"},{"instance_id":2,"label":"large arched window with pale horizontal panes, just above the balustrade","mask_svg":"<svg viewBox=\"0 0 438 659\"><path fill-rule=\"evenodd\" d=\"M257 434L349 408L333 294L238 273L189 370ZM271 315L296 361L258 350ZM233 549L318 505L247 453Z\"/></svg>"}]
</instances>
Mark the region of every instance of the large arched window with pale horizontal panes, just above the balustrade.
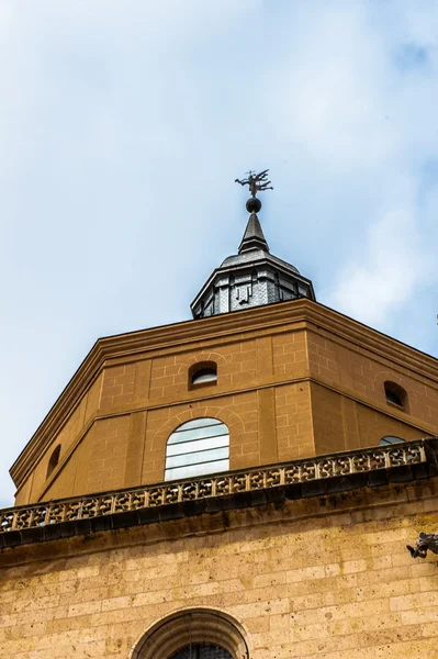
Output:
<instances>
[{"instance_id":1,"label":"large arched window with pale horizontal panes, just above the balustrade","mask_svg":"<svg viewBox=\"0 0 438 659\"><path fill-rule=\"evenodd\" d=\"M229 433L217 418L183 423L167 440L165 480L229 469Z\"/></svg>"}]
</instances>

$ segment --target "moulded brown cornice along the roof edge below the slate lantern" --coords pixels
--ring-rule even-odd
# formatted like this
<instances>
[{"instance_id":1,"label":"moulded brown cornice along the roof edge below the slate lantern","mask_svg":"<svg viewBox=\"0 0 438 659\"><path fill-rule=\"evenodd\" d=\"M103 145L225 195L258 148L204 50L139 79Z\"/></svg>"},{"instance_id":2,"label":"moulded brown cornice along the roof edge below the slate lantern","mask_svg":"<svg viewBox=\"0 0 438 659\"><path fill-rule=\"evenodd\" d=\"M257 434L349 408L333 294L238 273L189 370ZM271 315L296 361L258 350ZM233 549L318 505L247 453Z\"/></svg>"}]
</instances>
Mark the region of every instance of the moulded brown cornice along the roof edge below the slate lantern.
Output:
<instances>
[{"instance_id":1,"label":"moulded brown cornice along the roof edge below the slate lantern","mask_svg":"<svg viewBox=\"0 0 438 659\"><path fill-rule=\"evenodd\" d=\"M272 333L287 332L296 330L299 324L303 327L307 325L311 328L313 325L327 331L339 340L346 340L373 355L390 359L403 369L413 369L419 376L438 384L437 359L434 357L306 299L109 336L97 340L11 467L13 481L18 485L23 481L42 451L59 432L99 376L105 362L139 355L143 355L143 358L150 358L162 351L167 353L176 348L189 349L196 347L196 344L204 345L206 342L231 342L257 332L266 334L267 330Z\"/></svg>"}]
</instances>

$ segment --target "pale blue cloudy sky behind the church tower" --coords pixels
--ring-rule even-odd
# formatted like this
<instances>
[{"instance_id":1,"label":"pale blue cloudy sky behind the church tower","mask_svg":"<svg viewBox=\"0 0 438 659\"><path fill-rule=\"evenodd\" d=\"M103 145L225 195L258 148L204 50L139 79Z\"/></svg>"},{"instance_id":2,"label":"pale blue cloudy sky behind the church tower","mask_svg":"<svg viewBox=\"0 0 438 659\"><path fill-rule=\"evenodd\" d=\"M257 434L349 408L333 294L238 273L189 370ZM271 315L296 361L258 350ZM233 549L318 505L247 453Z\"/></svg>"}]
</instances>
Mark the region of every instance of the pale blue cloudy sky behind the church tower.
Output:
<instances>
[{"instance_id":1,"label":"pale blue cloudy sky behind the church tower","mask_svg":"<svg viewBox=\"0 0 438 659\"><path fill-rule=\"evenodd\" d=\"M0 0L0 506L101 336L190 317L247 193L317 300L438 356L436 0Z\"/></svg>"}]
</instances>

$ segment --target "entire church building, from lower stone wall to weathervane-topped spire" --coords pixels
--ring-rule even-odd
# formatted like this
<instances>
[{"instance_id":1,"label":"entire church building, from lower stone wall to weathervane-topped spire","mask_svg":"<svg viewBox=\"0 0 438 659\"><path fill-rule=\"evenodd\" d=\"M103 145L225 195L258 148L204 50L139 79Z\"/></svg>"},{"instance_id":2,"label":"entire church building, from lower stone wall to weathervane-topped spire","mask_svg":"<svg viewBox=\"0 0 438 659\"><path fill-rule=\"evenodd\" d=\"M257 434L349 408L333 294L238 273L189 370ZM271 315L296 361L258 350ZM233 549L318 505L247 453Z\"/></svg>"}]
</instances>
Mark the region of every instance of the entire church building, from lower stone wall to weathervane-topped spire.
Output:
<instances>
[{"instance_id":1,"label":"entire church building, from lower stone wall to weathervane-topped spire","mask_svg":"<svg viewBox=\"0 0 438 659\"><path fill-rule=\"evenodd\" d=\"M238 182L193 320L99 339L12 466L0 657L434 656L437 360L317 302Z\"/></svg>"}]
</instances>

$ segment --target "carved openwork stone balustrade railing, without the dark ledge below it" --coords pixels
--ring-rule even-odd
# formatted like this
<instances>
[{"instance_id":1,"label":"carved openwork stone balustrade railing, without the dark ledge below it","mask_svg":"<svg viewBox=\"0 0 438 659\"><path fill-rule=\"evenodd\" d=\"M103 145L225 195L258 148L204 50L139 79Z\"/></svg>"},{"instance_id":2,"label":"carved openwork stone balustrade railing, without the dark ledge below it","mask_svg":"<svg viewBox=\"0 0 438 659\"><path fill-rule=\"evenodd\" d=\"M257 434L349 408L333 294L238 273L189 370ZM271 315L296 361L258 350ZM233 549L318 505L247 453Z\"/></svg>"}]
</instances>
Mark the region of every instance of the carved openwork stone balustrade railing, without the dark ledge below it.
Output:
<instances>
[{"instance_id":1,"label":"carved openwork stone balustrade railing, without the dark ledge below it","mask_svg":"<svg viewBox=\"0 0 438 659\"><path fill-rule=\"evenodd\" d=\"M426 461L423 440L0 510L0 533Z\"/></svg>"}]
</instances>

